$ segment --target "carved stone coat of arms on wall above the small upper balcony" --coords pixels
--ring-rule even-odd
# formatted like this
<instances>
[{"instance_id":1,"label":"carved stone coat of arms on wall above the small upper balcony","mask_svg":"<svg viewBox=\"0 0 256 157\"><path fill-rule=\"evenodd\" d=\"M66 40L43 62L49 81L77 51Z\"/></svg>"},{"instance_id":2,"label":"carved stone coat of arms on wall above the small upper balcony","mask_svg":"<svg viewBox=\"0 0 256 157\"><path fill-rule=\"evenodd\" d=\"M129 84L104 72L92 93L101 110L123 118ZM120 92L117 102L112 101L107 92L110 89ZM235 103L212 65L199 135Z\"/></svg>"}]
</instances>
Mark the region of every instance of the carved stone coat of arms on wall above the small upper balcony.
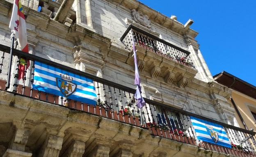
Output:
<instances>
[{"instance_id":1,"label":"carved stone coat of arms on wall above the small upper balcony","mask_svg":"<svg viewBox=\"0 0 256 157\"><path fill-rule=\"evenodd\" d=\"M133 9L132 18L135 22L141 24L142 26L151 28L151 20L149 20L149 17L147 15L144 15L142 12Z\"/></svg>"}]
</instances>

